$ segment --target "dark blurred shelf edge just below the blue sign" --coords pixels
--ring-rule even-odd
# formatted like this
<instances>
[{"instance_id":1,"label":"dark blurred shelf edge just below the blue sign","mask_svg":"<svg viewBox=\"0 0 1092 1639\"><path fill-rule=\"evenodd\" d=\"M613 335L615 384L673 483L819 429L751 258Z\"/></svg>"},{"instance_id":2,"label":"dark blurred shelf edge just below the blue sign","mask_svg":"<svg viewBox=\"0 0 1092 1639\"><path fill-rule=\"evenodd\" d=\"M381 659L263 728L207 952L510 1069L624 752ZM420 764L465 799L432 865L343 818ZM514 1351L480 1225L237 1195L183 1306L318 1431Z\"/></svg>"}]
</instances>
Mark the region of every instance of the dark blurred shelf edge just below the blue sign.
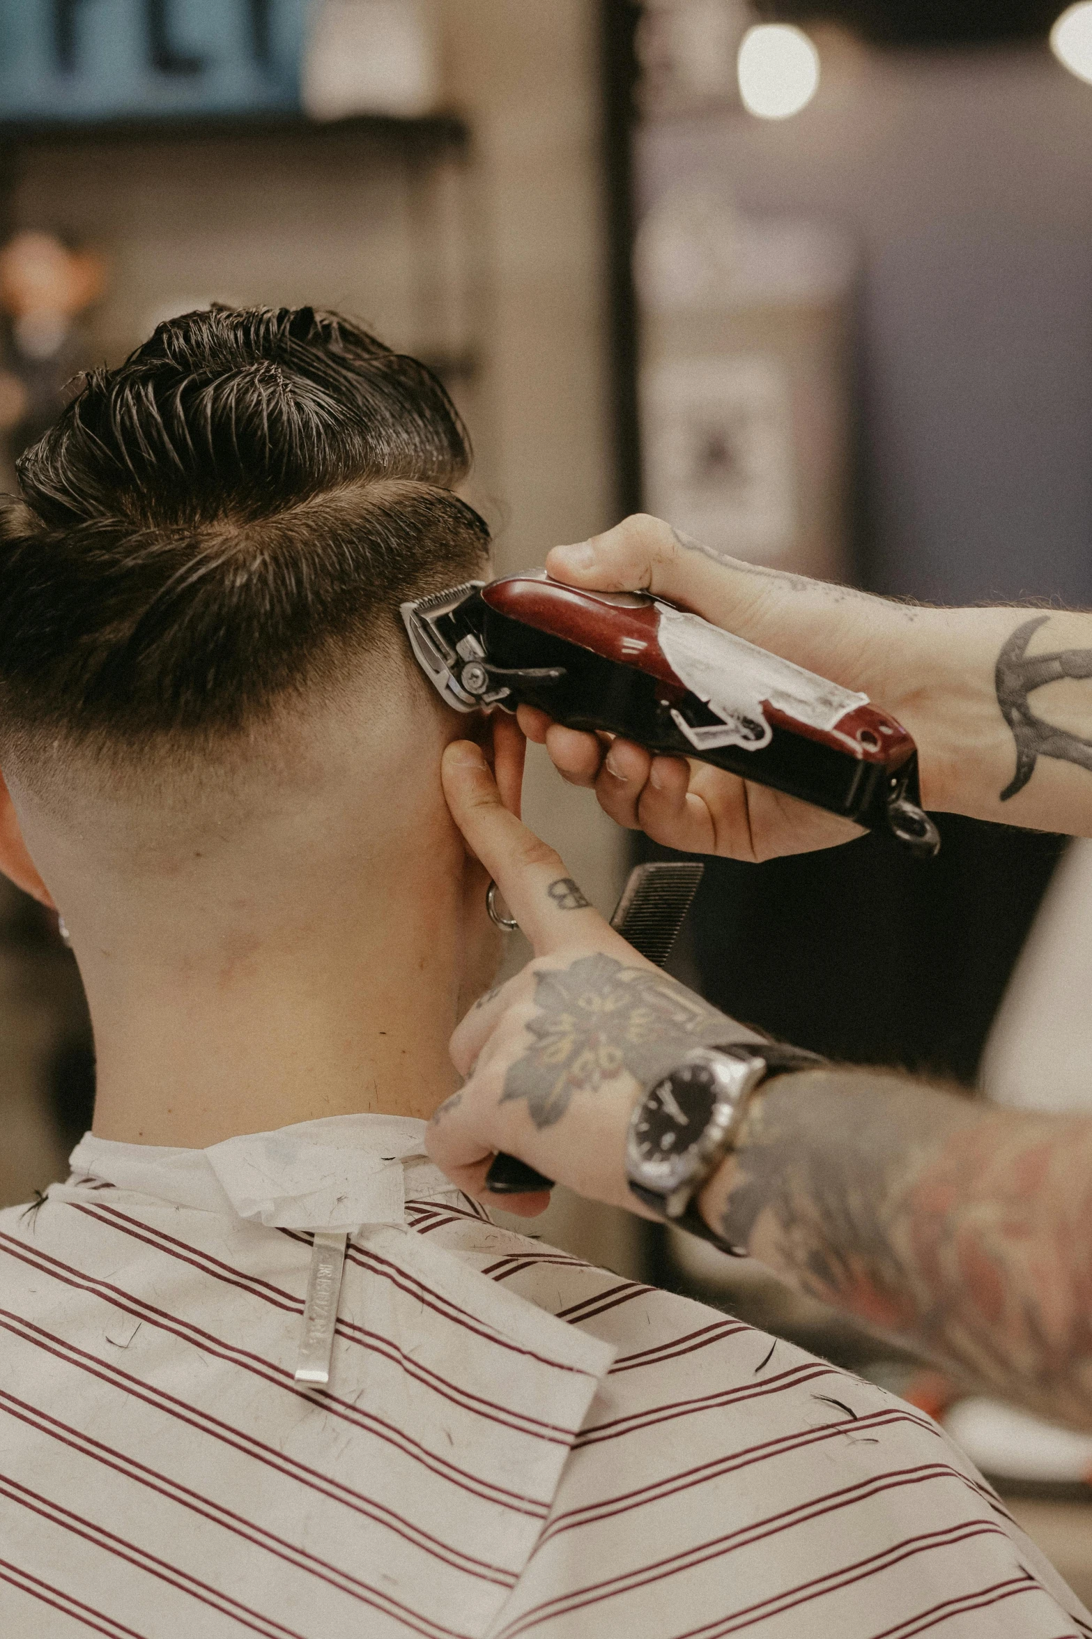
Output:
<instances>
[{"instance_id":1,"label":"dark blurred shelf edge just below the blue sign","mask_svg":"<svg viewBox=\"0 0 1092 1639\"><path fill-rule=\"evenodd\" d=\"M239 138L293 138L301 143L345 141L399 149L411 157L470 146L468 125L453 113L422 118L355 115L349 120L306 120L298 113L165 115L131 120L0 120L0 149L95 148L111 143L210 143Z\"/></svg>"}]
</instances>

